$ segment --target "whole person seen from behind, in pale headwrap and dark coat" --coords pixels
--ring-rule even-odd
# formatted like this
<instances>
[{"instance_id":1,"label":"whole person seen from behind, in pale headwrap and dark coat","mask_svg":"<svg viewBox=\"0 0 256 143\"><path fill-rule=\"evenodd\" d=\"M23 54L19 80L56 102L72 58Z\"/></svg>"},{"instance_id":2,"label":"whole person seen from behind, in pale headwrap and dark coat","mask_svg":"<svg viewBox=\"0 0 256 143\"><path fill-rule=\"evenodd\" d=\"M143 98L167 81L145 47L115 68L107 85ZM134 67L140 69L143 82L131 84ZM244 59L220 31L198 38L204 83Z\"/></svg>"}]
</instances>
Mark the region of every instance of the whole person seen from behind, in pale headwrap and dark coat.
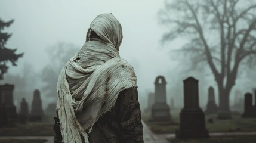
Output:
<instances>
[{"instance_id":1,"label":"whole person seen from behind, in pale headwrap and dark coat","mask_svg":"<svg viewBox=\"0 0 256 143\"><path fill-rule=\"evenodd\" d=\"M119 57L122 27L100 14L60 72L54 142L143 142L137 79Z\"/></svg>"}]
</instances>

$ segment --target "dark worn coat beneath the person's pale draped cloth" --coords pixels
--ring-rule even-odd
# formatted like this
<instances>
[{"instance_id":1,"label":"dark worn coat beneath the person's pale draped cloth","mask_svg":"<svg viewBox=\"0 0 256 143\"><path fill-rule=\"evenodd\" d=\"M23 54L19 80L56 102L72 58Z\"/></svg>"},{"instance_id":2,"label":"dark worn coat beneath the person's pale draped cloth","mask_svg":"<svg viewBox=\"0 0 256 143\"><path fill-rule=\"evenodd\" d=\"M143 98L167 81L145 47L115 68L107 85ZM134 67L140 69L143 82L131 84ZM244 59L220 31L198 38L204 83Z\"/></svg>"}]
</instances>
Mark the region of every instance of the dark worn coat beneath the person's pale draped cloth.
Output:
<instances>
[{"instance_id":1,"label":"dark worn coat beneath the person's pale draped cloth","mask_svg":"<svg viewBox=\"0 0 256 143\"><path fill-rule=\"evenodd\" d=\"M56 143L61 141L62 136L56 117L55 122ZM137 88L119 92L115 106L94 123L88 135L90 143L144 142Z\"/></svg>"}]
</instances>

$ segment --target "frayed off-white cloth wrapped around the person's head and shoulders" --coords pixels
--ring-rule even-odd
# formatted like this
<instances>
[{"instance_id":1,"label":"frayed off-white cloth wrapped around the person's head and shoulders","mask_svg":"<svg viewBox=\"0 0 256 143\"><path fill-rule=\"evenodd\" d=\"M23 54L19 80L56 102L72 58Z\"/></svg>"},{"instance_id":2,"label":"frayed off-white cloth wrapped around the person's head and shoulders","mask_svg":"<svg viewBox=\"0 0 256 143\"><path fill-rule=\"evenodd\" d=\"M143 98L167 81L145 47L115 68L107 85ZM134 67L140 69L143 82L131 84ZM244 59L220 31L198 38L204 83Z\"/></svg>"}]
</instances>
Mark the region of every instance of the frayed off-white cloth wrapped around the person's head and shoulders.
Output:
<instances>
[{"instance_id":1,"label":"frayed off-white cloth wrapped around the person's head and shoulders","mask_svg":"<svg viewBox=\"0 0 256 143\"><path fill-rule=\"evenodd\" d=\"M91 38L92 32L99 38ZM63 142L88 142L92 126L115 105L119 92L137 86L133 67L119 57L121 42L119 21L110 13L98 15L84 46L61 70L57 110Z\"/></svg>"}]
</instances>

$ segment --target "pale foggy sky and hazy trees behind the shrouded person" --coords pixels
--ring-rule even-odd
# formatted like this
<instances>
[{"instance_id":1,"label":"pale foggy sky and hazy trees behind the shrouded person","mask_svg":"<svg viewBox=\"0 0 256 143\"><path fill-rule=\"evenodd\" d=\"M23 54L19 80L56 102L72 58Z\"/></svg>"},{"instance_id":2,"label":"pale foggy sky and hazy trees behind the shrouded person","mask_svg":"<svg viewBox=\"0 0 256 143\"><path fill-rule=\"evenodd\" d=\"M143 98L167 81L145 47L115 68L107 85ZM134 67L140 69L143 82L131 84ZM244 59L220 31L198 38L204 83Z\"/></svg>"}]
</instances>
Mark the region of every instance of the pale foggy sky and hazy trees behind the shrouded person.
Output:
<instances>
[{"instance_id":1,"label":"pale foggy sky and hazy trees behind the shrouded person","mask_svg":"<svg viewBox=\"0 0 256 143\"><path fill-rule=\"evenodd\" d=\"M48 103L55 102L58 73L84 45L91 21L101 13L112 13L123 30L119 53L134 66L137 74L142 111L147 106L147 95L155 91L154 82L159 75L167 82L168 104L174 97L175 105L183 106L183 80L188 76L199 79L201 107L208 100L209 86L214 86L218 103L217 84L211 71L207 68L190 70L192 62L189 57L177 53L177 49L188 41L178 38L165 45L161 43L162 35L169 30L159 23L158 14L163 7L163 0L0 0L0 18L3 21L14 19L14 23L5 29L13 34L7 48L17 48L17 53L24 52L18 66L10 66L0 84L15 85L14 103L18 108L23 97L30 106L33 91L39 89L43 108L46 108ZM236 90L243 97L245 92L255 88L255 71L255 67L239 67L238 79L230 94L231 106Z\"/></svg>"}]
</instances>

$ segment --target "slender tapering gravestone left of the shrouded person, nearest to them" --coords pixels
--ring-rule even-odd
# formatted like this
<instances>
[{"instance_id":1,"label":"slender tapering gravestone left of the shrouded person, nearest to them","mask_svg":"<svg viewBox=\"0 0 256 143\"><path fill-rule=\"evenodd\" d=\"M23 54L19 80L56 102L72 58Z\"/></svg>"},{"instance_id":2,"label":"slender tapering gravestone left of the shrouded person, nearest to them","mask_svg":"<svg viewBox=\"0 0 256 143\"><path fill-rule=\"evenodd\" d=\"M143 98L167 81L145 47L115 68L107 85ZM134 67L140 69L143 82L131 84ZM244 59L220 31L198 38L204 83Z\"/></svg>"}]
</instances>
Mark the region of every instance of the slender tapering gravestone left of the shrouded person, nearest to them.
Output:
<instances>
[{"instance_id":1,"label":"slender tapering gravestone left of the shrouded person, nearest to them","mask_svg":"<svg viewBox=\"0 0 256 143\"><path fill-rule=\"evenodd\" d=\"M42 116L44 112L42 110L42 101L40 97L40 92L38 89L34 91L31 113L30 113L30 121L32 122L40 122L42 121Z\"/></svg>"}]
</instances>

